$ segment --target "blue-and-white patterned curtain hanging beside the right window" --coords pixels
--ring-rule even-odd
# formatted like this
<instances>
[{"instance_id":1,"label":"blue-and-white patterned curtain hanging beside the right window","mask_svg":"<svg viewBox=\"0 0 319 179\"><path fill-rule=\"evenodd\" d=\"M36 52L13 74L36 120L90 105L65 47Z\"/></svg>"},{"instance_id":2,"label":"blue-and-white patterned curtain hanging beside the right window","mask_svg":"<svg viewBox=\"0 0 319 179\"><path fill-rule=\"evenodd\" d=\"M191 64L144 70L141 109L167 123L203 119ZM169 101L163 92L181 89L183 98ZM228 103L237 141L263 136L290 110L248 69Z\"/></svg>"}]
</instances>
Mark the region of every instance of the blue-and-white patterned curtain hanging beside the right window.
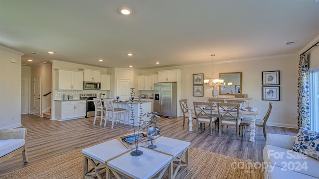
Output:
<instances>
[{"instance_id":1,"label":"blue-and-white patterned curtain hanging beside the right window","mask_svg":"<svg viewBox=\"0 0 319 179\"><path fill-rule=\"evenodd\" d=\"M298 130L310 129L309 114L309 66L307 54L300 55L298 70Z\"/></svg>"}]
</instances>

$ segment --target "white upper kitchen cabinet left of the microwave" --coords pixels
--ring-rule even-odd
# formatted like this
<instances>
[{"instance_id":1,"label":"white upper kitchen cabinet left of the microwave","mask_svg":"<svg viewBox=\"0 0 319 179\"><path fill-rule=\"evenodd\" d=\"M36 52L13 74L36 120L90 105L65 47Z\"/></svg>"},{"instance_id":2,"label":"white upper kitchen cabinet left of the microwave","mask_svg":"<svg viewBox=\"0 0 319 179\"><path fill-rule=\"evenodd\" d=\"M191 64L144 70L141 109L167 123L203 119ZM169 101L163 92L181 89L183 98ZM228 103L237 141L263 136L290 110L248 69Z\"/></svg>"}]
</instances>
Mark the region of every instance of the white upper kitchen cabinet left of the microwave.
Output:
<instances>
[{"instance_id":1,"label":"white upper kitchen cabinet left of the microwave","mask_svg":"<svg viewBox=\"0 0 319 179\"><path fill-rule=\"evenodd\" d=\"M56 89L83 90L83 72L57 69Z\"/></svg>"}]
</instances>

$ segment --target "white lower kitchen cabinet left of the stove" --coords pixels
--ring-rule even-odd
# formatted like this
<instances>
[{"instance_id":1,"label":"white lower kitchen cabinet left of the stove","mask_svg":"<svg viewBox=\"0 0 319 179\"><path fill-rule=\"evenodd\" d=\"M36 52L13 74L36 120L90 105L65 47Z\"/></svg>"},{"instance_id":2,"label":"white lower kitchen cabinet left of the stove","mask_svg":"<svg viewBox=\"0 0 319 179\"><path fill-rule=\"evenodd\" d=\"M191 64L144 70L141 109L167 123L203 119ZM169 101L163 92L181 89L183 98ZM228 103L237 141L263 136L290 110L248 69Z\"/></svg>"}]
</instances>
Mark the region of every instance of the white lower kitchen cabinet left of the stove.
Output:
<instances>
[{"instance_id":1,"label":"white lower kitchen cabinet left of the stove","mask_svg":"<svg viewBox=\"0 0 319 179\"><path fill-rule=\"evenodd\" d=\"M86 100L55 101L55 119L70 120L86 116Z\"/></svg>"}]
</instances>

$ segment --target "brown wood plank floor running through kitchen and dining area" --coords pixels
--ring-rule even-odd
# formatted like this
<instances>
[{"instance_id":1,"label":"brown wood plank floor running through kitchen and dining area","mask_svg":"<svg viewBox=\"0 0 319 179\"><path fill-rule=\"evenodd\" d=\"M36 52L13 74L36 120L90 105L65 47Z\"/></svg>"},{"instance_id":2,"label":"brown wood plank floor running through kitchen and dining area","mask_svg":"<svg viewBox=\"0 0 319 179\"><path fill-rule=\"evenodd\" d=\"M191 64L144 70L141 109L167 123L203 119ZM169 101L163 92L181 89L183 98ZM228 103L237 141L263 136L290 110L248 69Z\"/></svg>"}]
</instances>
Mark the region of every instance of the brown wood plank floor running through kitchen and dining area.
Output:
<instances>
[{"instance_id":1,"label":"brown wood plank floor running through kitchen and dining area","mask_svg":"<svg viewBox=\"0 0 319 179\"><path fill-rule=\"evenodd\" d=\"M75 150L87 148L129 132L130 125L111 123L106 127L100 126L99 121L93 125L93 117L69 121L55 121L31 114L21 115L22 127L27 128L27 155L29 162L23 164L22 155L16 155L0 164L0 174L21 169L32 164L45 161ZM262 127L256 127L256 142L249 142L249 127L246 127L244 137L236 140L234 127L226 128L221 137L213 130L210 136L209 127L197 134L189 132L188 126L182 128L182 117L160 118L161 135L191 142L191 147L223 154L253 162L263 162L262 151L266 144ZM195 120L193 121L195 128ZM194 129L195 131L195 129ZM271 127L268 133L297 135L297 129Z\"/></svg>"}]
</instances>

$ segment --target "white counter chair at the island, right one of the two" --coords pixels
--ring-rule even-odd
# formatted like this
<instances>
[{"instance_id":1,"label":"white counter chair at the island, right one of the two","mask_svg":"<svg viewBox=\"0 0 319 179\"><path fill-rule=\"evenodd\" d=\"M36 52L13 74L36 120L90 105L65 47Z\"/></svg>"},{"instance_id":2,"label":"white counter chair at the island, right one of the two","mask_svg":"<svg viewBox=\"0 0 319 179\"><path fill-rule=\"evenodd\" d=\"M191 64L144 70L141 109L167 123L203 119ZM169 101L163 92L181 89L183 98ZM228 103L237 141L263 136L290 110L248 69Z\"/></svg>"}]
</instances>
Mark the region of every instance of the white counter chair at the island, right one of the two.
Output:
<instances>
[{"instance_id":1,"label":"white counter chair at the island, right one of the two","mask_svg":"<svg viewBox=\"0 0 319 179\"><path fill-rule=\"evenodd\" d=\"M105 106L104 127L106 126L107 120L112 121L111 129L113 129L114 122L117 123L118 121L123 121L123 123L125 125L126 109L114 107L112 99L103 99L103 102L104 102L104 106ZM122 113L123 113L123 118L121 118Z\"/></svg>"}]
</instances>

